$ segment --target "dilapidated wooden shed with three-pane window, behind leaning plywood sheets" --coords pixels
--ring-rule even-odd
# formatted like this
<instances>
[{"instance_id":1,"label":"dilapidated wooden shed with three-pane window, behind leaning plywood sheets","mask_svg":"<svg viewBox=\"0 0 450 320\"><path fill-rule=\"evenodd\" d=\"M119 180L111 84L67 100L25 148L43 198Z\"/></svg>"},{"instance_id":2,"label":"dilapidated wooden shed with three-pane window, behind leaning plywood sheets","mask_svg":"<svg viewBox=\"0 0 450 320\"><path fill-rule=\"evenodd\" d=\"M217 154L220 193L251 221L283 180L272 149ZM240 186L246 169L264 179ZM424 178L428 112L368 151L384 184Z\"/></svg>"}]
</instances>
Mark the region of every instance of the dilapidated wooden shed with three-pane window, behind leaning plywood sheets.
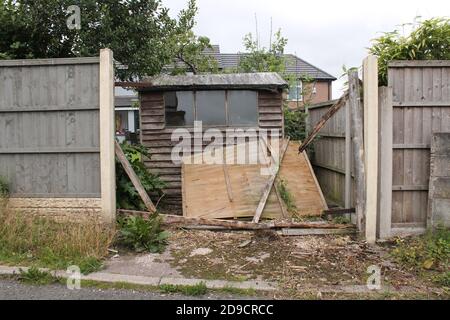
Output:
<instances>
[{"instance_id":1,"label":"dilapidated wooden shed with three-pane window, behind leaning plywood sheets","mask_svg":"<svg viewBox=\"0 0 450 320\"><path fill-rule=\"evenodd\" d=\"M181 165L171 159L175 129L193 131L194 121L202 121L203 130L278 129L282 135L287 87L277 73L159 76L139 83L141 143L152 155L147 167L167 184L165 202L181 207Z\"/></svg>"}]
</instances>

